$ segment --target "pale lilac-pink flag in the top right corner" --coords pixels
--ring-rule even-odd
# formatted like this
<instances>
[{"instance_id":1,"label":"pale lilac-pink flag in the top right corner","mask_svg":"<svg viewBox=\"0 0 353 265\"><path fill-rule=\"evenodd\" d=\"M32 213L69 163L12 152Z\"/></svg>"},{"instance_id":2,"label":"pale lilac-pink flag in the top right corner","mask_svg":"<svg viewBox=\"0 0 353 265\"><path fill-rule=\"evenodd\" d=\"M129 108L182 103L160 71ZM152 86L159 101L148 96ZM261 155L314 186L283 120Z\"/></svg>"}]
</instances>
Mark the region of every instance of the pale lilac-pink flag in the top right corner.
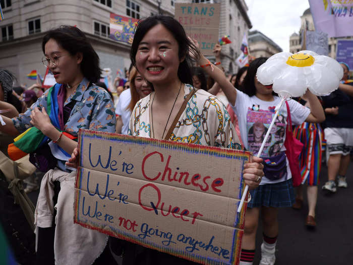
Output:
<instances>
[{"instance_id":1,"label":"pale lilac-pink flag in the top right corner","mask_svg":"<svg viewBox=\"0 0 353 265\"><path fill-rule=\"evenodd\" d=\"M352 1L309 0L315 30L329 37L353 36Z\"/></svg>"}]
</instances>

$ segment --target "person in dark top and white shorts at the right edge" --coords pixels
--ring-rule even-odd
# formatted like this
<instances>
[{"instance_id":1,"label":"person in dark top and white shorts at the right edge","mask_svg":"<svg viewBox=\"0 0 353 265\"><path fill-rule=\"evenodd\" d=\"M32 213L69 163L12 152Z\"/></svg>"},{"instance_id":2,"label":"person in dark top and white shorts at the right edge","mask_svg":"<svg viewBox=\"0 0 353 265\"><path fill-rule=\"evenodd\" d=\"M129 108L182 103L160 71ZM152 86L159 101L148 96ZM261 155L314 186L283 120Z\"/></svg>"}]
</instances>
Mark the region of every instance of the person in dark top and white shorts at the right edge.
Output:
<instances>
[{"instance_id":1,"label":"person in dark top and white shorts at the right edge","mask_svg":"<svg viewBox=\"0 0 353 265\"><path fill-rule=\"evenodd\" d=\"M349 166L349 153L353 150L353 82L348 82L349 66L339 62L343 68L343 78L338 89L323 96L325 108L325 138L328 181L322 186L324 191L334 193L346 188L345 174Z\"/></svg>"}]
</instances>

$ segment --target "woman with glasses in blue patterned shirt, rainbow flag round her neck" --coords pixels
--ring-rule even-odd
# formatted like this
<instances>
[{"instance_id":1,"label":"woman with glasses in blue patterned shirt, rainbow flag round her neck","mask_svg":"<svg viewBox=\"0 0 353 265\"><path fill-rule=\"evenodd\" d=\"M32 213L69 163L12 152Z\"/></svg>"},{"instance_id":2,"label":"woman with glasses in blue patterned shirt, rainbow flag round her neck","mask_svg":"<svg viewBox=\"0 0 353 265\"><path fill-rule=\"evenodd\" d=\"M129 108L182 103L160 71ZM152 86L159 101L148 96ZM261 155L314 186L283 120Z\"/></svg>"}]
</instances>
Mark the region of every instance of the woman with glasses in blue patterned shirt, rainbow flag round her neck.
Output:
<instances>
[{"instance_id":1,"label":"woman with glasses in blue patterned shirt, rainbow flag round her neck","mask_svg":"<svg viewBox=\"0 0 353 265\"><path fill-rule=\"evenodd\" d=\"M35 210L37 264L54 264L54 259L60 264L111 264L113 259L103 251L107 237L73 223L75 172L65 166L80 128L115 131L113 102L94 84L101 74L99 58L84 33L72 26L49 30L42 50L42 62L56 84L24 114L3 117L6 125L0 126L0 131L18 136L9 145L13 160L30 153L31 162L47 171Z\"/></svg>"}]
</instances>

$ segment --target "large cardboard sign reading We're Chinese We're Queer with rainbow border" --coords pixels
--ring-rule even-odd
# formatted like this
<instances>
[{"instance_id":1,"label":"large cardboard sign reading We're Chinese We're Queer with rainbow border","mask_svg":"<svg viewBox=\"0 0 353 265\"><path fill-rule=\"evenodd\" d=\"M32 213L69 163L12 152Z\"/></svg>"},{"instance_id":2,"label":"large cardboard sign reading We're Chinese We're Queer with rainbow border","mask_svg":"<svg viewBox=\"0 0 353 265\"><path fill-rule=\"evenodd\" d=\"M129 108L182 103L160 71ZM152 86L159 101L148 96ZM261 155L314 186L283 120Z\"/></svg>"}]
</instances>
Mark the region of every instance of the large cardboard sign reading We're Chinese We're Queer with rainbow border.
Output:
<instances>
[{"instance_id":1,"label":"large cardboard sign reading We're Chinese We're Queer with rainbow border","mask_svg":"<svg viewBox=\"0 0 353 265\"><path fill-rule=\"evenodd\" d=\"M251 153L80 130L74 222L202 264L238 264Z\"/></svg>"}]
</instances>

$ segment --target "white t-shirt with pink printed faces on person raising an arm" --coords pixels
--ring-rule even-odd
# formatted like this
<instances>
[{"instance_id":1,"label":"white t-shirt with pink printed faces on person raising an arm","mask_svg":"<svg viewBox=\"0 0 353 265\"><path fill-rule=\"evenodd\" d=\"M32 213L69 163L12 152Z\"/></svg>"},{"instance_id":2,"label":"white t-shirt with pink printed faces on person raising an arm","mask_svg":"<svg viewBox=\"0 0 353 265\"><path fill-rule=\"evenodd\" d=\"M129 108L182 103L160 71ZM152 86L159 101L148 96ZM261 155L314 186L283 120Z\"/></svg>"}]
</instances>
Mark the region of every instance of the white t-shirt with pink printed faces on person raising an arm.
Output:
<instances>
[{"instance_id":1,"label":"white t-shirt with pink printed faces on person raising an arm","mask_svg":"<svg viewBox=\"0 0 353 265\"><path fill-rule=\"evenodd\" d=\"M235 106L231 106L234 113L238 116L240 133L247 150L256 155L260 149L262 141L267 133L274 109L280 102L278 96L274 96L273 101L264 101L257 96L248 96L237 89L237 99ZM292 125L302 124L310 114L310 109L304 107L295 100L288 100ZM274 154L285 151L285 128L287 121L287 108L285 103L278 113L278 117L271 129L268 140L262 151L261 157L271 157ZM278 183L291 178L287 161L287 175L281 179L271 181L264 176L260 185L268 183Z\"/></svg>"}]
</instances>

